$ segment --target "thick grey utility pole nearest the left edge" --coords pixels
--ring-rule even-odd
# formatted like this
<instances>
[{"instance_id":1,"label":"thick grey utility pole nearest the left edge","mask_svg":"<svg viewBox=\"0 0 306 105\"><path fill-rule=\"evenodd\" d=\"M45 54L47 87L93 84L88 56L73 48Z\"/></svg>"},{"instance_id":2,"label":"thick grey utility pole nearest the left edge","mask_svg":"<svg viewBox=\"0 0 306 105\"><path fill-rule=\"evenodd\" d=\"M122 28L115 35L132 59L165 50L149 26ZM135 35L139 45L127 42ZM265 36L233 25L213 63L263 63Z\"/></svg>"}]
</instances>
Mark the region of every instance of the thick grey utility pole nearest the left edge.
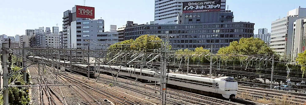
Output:
<instances>
[{"instance_id":1,"label":"thick grey utility pole nearest the left edge","mask_svg":"<svg viewBox=\"0 0 306 105\"><path fill-rule=\"evenodd\" d=\"M7 43L2 43L2 69L3 69L3 104L9 105L9 81L7 69Z\"/></svg>"}]
</instances>

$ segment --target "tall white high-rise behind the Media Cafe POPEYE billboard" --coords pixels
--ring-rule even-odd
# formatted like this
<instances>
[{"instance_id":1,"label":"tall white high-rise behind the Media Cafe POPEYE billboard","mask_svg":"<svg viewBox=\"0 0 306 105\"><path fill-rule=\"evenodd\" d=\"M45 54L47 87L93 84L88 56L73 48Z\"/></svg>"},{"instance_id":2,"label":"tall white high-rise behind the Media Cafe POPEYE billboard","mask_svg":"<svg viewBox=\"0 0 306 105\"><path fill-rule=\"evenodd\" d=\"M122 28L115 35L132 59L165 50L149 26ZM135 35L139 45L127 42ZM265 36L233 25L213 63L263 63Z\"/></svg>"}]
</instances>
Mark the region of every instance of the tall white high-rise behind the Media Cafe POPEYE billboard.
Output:
<instances>
[{"instance_id":1,"label":"tall white high-rise behind the Media Cafe POPEYE billboard","mask_svg":"<svg viewBox=\"0 0 306 105\"><path fill-rule=\"evenodd\" d=\"M211 0L155 0L154 24L181 23L183 2L211 1ZM218 2L218 0L216 0ZM221 1L221 10L225 10L226 0Z\"/></svg>"}]
</instances>

